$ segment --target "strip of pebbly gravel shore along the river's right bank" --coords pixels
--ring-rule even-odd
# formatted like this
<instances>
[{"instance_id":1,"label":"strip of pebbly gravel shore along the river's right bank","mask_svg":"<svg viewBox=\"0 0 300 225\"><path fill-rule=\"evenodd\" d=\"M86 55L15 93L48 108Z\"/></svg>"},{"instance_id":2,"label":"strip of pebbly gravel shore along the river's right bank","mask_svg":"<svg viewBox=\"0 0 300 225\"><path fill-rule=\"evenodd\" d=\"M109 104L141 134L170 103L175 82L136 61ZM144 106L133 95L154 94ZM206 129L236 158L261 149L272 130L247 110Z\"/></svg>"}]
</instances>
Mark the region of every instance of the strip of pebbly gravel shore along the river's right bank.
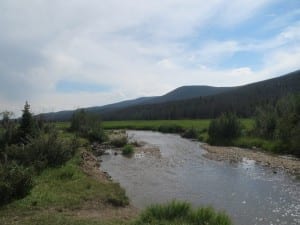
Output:
<instances>
[{"instance_id":1,"label":"strip of pebbly gravel shore along the river's right bank","mask_svg":"<svg viewBox=\"0 0 300 225\"><path fill-rule=\"evenodd\" d=\"M238 147L220 147L202 144L207 151L206 158L217 161L240 162L243 158L255 160L263 166L284 169L292 174L300 175L300 160L294 157L272 155L265 152Z\"/></svg>"}]
</instances>

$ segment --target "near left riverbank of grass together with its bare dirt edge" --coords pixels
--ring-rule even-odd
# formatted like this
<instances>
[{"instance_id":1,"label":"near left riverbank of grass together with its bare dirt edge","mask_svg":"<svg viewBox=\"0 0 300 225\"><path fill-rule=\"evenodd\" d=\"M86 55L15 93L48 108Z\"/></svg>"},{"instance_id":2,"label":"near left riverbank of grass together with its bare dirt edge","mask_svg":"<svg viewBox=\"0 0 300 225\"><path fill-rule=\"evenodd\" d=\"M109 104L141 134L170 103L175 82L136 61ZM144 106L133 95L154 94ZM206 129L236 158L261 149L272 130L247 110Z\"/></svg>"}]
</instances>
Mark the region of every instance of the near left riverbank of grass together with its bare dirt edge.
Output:
<instances>
[{"instance_id":1,"label":"near left riverbank of grass together with its bare dirt edge","mask_svg":"<svg viewBox=\"0 0 300 225\"><path fill-rule=\"evenodd\" d=\"M138 213L124 189L99 170L97 158L86 148L34 182L28 196L0 208L1 225L126 224Z\"/></svg>"}]
</instances>

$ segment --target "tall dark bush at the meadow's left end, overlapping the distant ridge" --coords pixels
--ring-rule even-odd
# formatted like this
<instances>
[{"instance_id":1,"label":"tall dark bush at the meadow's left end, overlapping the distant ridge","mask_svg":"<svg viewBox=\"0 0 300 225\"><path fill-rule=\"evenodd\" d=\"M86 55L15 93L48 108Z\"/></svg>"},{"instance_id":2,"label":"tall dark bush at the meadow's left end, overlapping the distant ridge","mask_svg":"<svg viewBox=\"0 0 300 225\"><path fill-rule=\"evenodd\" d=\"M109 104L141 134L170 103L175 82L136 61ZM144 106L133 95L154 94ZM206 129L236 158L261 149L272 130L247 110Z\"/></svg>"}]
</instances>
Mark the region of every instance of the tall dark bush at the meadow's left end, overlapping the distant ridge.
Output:
<instances>
[{"instance_id":1,"label":"tall dark bush at the meadow's left end, overlapping the distant ridge","mask_svg":"<svg viewBox=\"0 0 300 225\"><path fill-rule=\"evenodd\" d=\"M71 119L70 130L90 141L103 142L106 140L105 133L101 128L100 117L85 112L83 109L74 112Z\"/></svg>"}]
</instances>

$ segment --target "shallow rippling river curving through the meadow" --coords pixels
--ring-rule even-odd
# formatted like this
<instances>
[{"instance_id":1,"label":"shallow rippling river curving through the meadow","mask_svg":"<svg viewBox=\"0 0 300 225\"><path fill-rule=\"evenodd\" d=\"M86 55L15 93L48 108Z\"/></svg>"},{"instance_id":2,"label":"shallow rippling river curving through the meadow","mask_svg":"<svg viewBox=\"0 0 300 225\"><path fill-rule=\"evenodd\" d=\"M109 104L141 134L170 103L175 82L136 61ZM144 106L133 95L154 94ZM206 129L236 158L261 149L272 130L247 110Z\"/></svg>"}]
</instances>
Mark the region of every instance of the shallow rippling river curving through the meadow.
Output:
<instances>
[{"instance_id":1,"label":"shallow rippling river curving through the meadow","mask_svg":"<svg viewBox=\"0 0 300 225\"><path fill-rule=\"evenodd\" d=\"M300 182L244 159L217 162L203 157L198 142L173 134L128 131L131 139L157 147L160 156L102 156L102 170L126 189L131 203L143 209L172 199L224 210L236 225L300 224Z\"/></svg>"}]
</instances>

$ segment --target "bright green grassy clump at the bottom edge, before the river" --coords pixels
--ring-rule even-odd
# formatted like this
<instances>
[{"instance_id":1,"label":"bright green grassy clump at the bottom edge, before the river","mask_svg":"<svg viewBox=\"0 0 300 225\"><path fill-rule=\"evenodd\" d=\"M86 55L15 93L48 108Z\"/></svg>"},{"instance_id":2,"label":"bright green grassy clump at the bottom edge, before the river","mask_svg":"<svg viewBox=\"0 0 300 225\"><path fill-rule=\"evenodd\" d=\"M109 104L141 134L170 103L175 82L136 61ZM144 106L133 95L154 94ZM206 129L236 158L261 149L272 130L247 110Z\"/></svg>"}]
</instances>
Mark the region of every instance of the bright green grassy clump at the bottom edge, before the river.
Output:
<instances>
[{"instance_id":1,"label":"bright green grassy clump at the bottom edge, before the river","mask_svg":"<svg viewBox=\"0 0 300 225\"><path fill-rule=\"evenodd\" d=\"M193 210L189 203L172 201L149 206L134 224L231 225L232 223L227 215L210 207Z\"/></svg>"}]
</instances>

